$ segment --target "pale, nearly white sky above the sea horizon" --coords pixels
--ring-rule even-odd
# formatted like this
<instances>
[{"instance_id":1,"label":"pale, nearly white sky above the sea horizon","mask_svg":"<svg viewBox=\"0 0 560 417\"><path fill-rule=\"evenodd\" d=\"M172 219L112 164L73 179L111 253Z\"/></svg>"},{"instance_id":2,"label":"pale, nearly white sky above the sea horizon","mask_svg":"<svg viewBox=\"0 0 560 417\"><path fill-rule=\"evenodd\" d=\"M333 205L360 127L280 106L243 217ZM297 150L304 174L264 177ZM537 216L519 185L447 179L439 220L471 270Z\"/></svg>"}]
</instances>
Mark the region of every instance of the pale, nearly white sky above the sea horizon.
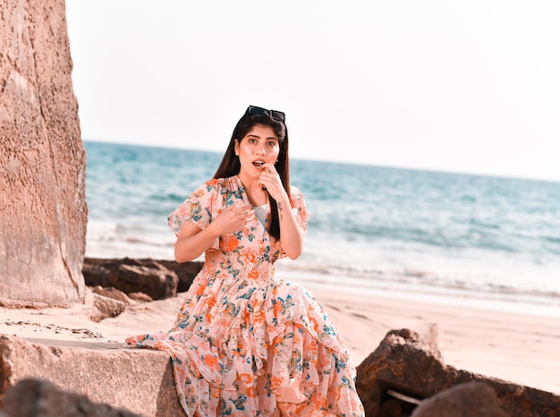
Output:
<instances>
[{"instance_id":1,"label":"pale, nearly white sky above the sea horizon","mask_svg":"<svg viewBox=\"0 0 560 417\"><path fill-rule=\"evenodd\" d=\"M560 181L560 2L66 0L85 140Z\"/></svg>"}]
</instances>

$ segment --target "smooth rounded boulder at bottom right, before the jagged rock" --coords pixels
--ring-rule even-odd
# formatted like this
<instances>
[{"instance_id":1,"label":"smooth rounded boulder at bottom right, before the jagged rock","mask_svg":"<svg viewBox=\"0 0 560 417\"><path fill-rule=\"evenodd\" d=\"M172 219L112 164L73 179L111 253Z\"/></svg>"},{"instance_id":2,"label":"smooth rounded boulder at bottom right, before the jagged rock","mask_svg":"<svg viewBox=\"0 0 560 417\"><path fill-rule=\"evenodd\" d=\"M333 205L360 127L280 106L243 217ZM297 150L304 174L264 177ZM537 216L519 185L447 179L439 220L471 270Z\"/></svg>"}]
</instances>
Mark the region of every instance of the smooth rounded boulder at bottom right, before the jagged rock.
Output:
<instances>
[{"instance_id":1,"label":"smooth rounded boulder at bottom right, before the jagged rock","mask_svg":"<svg viewBox=\"0 0 560 417\"><path fill-rule=\"evenodd\" d=\"M494 390L483 382L459 384L424 400L412 417L507 417Z\"/></svg>"}]
</instances>

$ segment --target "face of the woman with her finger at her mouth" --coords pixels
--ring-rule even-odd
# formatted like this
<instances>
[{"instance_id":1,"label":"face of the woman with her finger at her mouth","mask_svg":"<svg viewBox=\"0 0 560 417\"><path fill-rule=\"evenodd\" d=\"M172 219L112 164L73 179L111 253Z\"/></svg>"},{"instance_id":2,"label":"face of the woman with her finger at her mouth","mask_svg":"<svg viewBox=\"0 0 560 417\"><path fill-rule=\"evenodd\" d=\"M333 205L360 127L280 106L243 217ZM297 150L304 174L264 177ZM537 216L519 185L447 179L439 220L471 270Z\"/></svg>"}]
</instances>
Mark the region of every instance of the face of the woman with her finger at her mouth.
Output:
<instances>
[{"instance_id":1,"label":"face of the woman with her finger at her mouth","mask_svg":"<svg viewBox=\"0 0 560 417\"><path fill-rule=\"evenodd\" d=\"M235 154L239 156L241 171L259 175L264 164L275 165L280 144L273 129L256 124L241 141L235 140Z\"/></svg>"}]
</instances>

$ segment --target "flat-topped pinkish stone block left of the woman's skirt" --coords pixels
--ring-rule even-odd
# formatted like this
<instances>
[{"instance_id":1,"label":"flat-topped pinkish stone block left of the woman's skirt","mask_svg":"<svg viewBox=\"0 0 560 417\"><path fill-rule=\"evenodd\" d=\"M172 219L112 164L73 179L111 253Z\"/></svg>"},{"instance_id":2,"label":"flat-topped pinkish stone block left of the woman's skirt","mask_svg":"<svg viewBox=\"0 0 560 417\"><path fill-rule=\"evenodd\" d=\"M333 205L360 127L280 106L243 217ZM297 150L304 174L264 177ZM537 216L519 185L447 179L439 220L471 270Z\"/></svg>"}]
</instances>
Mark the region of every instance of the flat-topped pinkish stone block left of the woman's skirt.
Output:
<instances>
[{"instance_id":1,"label":"flat-topped pinkish stone block left of the woman's skirt","mask_svg":"<svg viewBox=\"0 0 560 417\"><path fill-rule=\"evenodd\" d=\"M167 353L106 343L64 344L0 336L0 401L23 379L46 379L64 391L143 416L185 415Z\"/></svg>"}]
</instances>

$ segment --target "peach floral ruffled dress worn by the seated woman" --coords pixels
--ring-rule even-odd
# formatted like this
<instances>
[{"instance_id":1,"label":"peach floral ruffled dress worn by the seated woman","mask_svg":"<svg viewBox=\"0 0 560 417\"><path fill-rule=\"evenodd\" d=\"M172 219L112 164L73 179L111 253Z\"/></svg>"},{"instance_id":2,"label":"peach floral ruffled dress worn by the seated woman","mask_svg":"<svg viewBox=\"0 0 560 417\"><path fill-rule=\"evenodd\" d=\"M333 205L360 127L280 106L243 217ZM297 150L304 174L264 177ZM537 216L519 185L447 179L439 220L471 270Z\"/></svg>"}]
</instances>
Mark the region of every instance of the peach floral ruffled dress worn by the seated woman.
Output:
<instances>
[{"instance_id":1,"label":"peach floral ruffled dress worn by the seated woman","mask_svg":"<svg viewBox=\"0 0 560 417\"><path fill-rule=\"evenodd\" d=\"M305 232L309 215L295 187L290 200ZM249 204L241 180L213 179L174 210L169 225L175 234L184 222L204 229L236 203ZM301 285L274 276L285 254L267 220L255 218L208 248L173 328L126 342L171 355L189 416L363 416L335 324Z\"/></svg>"}]
</instances>

